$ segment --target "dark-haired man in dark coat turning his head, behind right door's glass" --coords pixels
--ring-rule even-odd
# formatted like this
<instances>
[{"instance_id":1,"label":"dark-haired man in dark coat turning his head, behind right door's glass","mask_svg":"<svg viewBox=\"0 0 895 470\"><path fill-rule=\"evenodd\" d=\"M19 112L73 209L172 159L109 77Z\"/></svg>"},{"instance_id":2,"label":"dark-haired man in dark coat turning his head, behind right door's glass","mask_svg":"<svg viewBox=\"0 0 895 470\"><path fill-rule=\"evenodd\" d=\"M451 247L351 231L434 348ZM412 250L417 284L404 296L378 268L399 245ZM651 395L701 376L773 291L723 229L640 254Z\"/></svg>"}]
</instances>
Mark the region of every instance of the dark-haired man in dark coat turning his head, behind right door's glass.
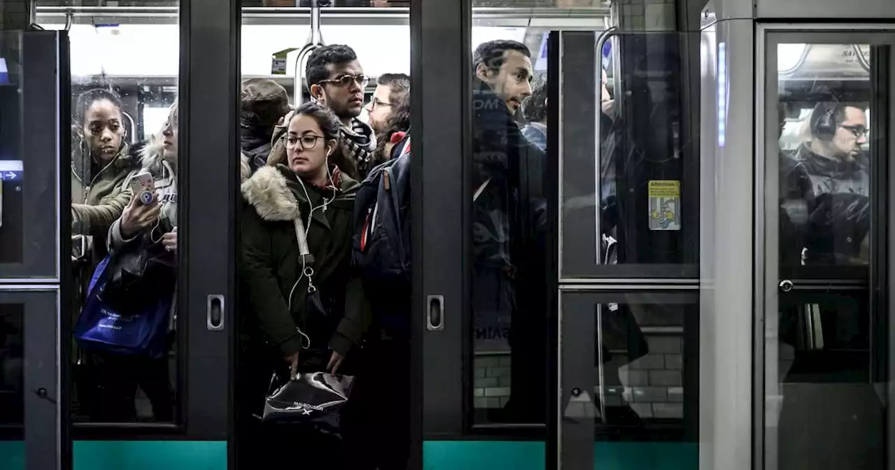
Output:
<instances>
[{"instance_id":1,"label":"dark-haired man in dark coat turning his head, behind right door's glass","mask_svg":"<svg viewBox=\"0 0 895 470\"><path fill-rule=\"evenodd\" d=\"M473 329L507 332L515 423L543 423L547 328L544 153L525 139L516 115L532 95L531 52L494 40L473 52ZM490 349L476 342L476 352Z\"/></svg>"}]
</instances>

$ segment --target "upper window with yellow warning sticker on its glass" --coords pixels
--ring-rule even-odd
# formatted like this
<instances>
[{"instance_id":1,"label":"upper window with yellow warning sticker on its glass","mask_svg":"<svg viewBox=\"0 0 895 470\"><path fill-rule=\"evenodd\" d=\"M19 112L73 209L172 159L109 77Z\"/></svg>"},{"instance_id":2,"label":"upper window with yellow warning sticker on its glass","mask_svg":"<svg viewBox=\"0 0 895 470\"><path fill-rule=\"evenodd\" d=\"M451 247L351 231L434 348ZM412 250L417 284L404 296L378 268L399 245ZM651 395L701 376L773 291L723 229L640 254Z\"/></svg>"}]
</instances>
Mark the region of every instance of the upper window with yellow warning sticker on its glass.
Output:
<instances>
[{"instance_id":1,"label":"upper window with yellow warning sticker on its glass","mask_svg":"<svg viewBox=\"0 0 895 470\"><path fill-rule=\"evenodd\" d=\"M563 278L697 276L698 152L685 115L682 38L609 31L582 53L592 72L575 81L593 83L596 94L579 92L586 98L566 107L588 117L564 124L573 127L562 137ZM561 86L564 96L580 87Z\"/></svg>"}]
</instances>

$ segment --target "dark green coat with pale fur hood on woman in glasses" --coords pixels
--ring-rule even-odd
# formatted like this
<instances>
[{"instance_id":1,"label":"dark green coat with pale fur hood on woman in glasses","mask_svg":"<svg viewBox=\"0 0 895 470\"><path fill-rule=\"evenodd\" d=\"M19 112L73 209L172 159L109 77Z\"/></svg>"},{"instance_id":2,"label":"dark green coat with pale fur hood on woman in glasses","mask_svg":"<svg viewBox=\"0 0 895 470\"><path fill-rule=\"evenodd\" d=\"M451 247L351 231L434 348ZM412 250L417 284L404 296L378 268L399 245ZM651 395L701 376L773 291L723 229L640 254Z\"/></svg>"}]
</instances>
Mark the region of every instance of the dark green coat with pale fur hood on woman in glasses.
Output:
<instances>
[{"instance_id":1,"label":"dark green coat with pale fur hood on woman in glasses","mask_svg":"<svg viewBox=\"0 0 895 470\"><path fill-rule=\"evenodd\" d=\"M328 349L344 356L371 320L360 278L351 268L354 195L359 184L345 175L338 179L337 190L318 188L303 184L288 167L278 165L261 167L242 186L246 201L242 275L251 306L246 311L253 312L260 337L276 345L281 355L309 349L299 355L301 367L325 366ZM335 199L324 210L323 202L334 192ZM311 214L311 207L318 209ZM320 292L325 316L311 315L306 308L308 278L301 276L298 218L307 229L311 281Z\"/></svg>"}]
</instances>

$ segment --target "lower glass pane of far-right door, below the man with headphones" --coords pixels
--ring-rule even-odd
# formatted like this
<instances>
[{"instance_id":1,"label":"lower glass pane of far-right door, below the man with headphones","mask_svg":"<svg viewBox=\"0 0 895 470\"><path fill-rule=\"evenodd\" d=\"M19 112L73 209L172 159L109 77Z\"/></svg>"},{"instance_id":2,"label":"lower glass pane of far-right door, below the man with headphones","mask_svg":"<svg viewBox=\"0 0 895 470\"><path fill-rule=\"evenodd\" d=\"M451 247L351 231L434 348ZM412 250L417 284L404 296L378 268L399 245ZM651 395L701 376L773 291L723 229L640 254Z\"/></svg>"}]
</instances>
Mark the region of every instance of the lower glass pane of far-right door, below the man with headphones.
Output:
<instances>
[{"instance_id":1,"label":"lower glass pane of far-right door, below the man with headphones","mask_svg":"<svg viewBox=\"0 0 895 470\"><path fill-rule=\"evenodd\" d=\"M780 295L778 338L766 346L776 367L765 376L765 455L778 468L884 468L871 320L866 292Z\"/></svg>"}]
</instances>

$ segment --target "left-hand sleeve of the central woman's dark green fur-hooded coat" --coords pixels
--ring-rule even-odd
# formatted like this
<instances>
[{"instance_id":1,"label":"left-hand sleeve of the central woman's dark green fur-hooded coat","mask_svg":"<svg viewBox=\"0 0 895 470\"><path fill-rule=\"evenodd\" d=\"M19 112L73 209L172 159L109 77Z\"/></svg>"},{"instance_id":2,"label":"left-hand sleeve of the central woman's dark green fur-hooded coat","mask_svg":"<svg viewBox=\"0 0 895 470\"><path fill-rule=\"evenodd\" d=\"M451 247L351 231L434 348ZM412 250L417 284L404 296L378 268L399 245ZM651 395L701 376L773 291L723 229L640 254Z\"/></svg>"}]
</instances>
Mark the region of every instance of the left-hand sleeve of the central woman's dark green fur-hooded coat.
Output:
<instances>
[{"instance_id":1,"label":"left-hand sleeve of the central woman's dark green fur-hooded coat","mask_svg":"<svg viewBox=\"0 0 895 470\"><path fill-rule=\"evenodd\" d=\"M302 348L302 337L274 276L271 237L265 225L255 209L247 205L242 223L243 279L261 331L279 346L284 356L294 355Z\"/></svg>"}]
</instances>

